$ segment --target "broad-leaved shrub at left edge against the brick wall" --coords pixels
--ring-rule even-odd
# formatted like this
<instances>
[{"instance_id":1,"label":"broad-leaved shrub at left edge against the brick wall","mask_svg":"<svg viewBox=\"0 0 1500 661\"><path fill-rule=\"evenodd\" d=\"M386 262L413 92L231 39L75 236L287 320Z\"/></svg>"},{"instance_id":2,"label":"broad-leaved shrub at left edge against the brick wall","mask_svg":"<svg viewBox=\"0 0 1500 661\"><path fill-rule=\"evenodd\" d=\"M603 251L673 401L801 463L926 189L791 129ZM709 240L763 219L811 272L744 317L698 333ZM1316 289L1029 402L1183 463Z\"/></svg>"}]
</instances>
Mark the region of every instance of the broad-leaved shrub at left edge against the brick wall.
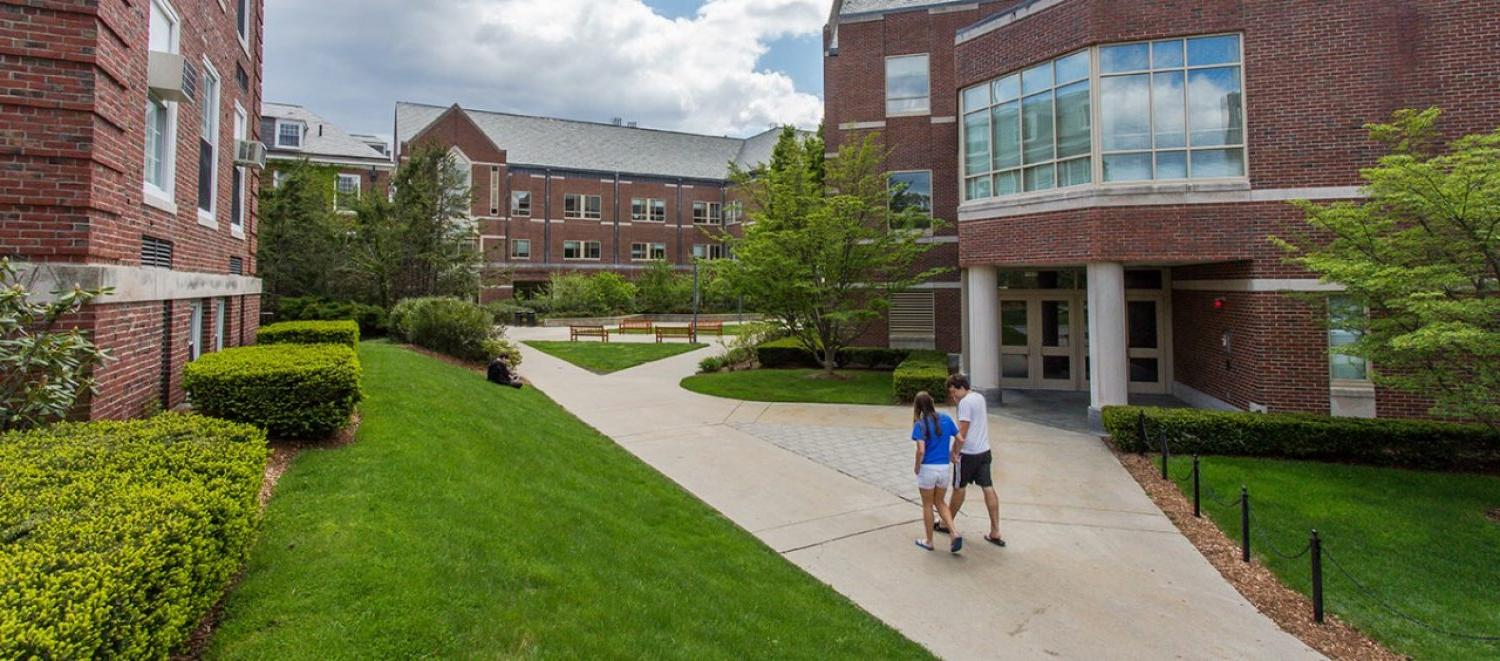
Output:
<instances>
[{"instance_id":1,"label":"broad-leaved shrub at left edge against the brick wall","mask_svg":"<svg viewBox=\"0 0 1500 661\"><path fill-rule=\"evenodd\" d=\"M110 288L57 291L33 303L9 259L0 259L0 432L62 420L94 390L92 370L110 355L62 319Z\"/></svg>"}]
</instances>

